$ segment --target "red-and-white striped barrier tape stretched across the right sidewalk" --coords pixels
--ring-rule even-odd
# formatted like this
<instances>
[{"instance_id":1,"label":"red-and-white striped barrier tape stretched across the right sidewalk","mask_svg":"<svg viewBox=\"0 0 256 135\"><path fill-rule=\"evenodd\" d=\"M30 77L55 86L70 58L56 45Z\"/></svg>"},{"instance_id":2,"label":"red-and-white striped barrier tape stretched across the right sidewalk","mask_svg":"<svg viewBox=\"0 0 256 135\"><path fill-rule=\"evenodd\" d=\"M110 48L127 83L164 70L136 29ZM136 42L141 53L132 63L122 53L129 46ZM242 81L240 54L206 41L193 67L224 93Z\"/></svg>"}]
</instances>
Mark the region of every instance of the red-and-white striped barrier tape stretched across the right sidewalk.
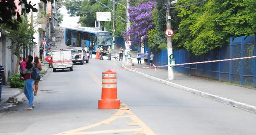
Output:
<instances>
[{"instance_id":1,"label":"red-and-white striped barrier tape stretched across the right sidewalk","mask_svg":"<svg viewBox=\"0 0 256 135\"><path fill-rule=\"evenodd\" d=\"M201 62L192 62L192 63L183 63L183 64L172 64L172 65L164 65L164 66L157 66L157 67L166 67L166 66L180 66L180 65L190 65L190 64L201 64L201 63L211 63L211 62L219 62L219 61L229 61L229 60L241 60L241 59L249 59L249 58L255 58L256 56L250 56L250 57L239 57L239 58L233 58L233 59L224 59L224 60L210 60L210 61L201 61ZM141 68L134 68L135 69L147 69L147 68L155 68L153 67L141 67ZM118 69L118 70L128 70L128 69Z\"/></svg>"}]
</instances>

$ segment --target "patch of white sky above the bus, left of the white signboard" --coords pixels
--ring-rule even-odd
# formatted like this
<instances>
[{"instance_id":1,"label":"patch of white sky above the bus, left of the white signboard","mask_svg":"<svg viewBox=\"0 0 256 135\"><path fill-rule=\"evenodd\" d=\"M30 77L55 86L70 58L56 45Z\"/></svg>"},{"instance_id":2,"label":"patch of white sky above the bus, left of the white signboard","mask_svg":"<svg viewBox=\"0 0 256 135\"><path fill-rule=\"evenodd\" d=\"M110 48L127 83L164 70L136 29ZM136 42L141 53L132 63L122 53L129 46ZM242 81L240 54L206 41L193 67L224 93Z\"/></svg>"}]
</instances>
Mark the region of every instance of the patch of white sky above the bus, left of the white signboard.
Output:
<instances>
[{"instance_id":1,"label":"patch of white sky above the bus, left of the white signboard","mask_svg":"<svg viewBox=\"0 0 256 135\"><path fill-rule=\"evenodd\" d=\"M70 15L67 13L67 10L65 7L59 9L61 14L63 14L63 21L60 24L61 27L71 27L77 26L78 25L78 20L79 17L70 17Z\"/></svg>"}]
</instances>

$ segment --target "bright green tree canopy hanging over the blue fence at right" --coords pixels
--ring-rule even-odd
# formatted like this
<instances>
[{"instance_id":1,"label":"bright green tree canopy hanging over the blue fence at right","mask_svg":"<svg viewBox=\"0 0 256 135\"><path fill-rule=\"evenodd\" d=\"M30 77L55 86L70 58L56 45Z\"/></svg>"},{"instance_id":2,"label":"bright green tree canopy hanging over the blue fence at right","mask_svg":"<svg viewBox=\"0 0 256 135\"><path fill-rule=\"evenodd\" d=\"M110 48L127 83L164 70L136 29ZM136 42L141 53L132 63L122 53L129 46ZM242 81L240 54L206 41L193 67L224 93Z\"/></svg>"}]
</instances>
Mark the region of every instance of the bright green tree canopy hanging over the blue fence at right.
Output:
<instances>
[{"instance_id":1,"label":"bright green tree canopy hanging over the blue fence at right","mask_svg":"<svg viewBox=\"0 0 256 135\"><path fill-rule=\"evenodd\" d=\"M195 1L178 0L176 6L191 3ZM181 22L173 40L178 47L202 55L227 44L230 37L256 34L255 4L256 0L209 0L177 8Z\"/></svg>"}]
</instances>

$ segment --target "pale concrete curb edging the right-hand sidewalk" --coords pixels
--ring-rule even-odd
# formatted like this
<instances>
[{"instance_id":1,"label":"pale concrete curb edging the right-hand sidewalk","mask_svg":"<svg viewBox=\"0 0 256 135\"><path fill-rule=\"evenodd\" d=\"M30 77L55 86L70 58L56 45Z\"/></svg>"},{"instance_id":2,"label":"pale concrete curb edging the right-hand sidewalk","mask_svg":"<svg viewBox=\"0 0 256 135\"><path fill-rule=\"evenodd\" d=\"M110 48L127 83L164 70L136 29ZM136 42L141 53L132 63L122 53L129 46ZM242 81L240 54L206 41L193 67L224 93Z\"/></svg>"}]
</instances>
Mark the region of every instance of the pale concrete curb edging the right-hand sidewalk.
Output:
<instances>
[{"instance_id":1,"label":"pale concrete curb edging the right-hand sidewalk","mask_svg":"<svg viewBox=\"0 0 256 135\"><path fill-rule=\"evenodd\" d=\"M119 62L119 61L118 61ZM241 102L238 102L238 101L234 101L234 100L231 100L231 99L227 99L227 98L223 98L223 97L220 97L220 96L217 96L217 95L212 95L212 94L209 94L209 93L206 93L206 92L201 92L199 90L196 90L196 89L192 89L192 88L189 88L189 87L186 87L186 86L182 86L182 85L179 85L179 84L176 84L176 83L172 83L172 82L169 82L167 80L163 80L163 79L160 79L160 78L156 78L156 77L153 77L151 75L147 75L147 74L144 74L142 72L137 72L135 70L132 70L132 69L129 69L127 68L126 66L124 66L123 64L120 63L120 65L124 68L124 69L128 69L128 71L131 71L131 72L134 72L134 73L137 73L139 75L142 75L146 78L149 78L151 80L156 80L156 81L159 81L161 83L164 83L166 85L169 85L169 86L172 86L172 87L175 87L177 89L182 89L182 90L186 90L188 92L191 92L193 94L197 94L197 95L200 95L202 97L205 97L205 98L210 98L212 100L215 100L215 101L219 101L221 103L225 103L227 105L230 105L230 106L233 106L233 107L237 107L239 109L243 109L243 110L246 110L248 112L253 112L253 113L256 113L256 106L252 106L252 105L249 105L249 104L246 104L246 103L241 103Z\"/></svg>"}]
</instances>

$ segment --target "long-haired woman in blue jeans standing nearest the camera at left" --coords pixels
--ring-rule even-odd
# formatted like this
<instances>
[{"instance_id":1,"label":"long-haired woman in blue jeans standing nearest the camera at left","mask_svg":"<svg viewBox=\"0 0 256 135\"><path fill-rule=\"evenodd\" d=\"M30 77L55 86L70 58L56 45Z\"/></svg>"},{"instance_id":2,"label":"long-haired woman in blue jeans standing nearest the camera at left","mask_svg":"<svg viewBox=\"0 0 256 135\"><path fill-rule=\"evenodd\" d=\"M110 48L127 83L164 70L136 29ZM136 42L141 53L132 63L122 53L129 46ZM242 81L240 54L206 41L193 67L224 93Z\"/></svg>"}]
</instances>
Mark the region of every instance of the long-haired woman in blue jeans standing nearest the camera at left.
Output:
<instances>
[{"instance_id":1,"label":"long-haired woman in blue jeans standing nearest the camera at left","mask_svg":"<svg viewBox=\"0 0 256 135\"><path fill-rule=\"evenodd\" d=\"M33 56L29 55L25 59L26 61L26 68L23 70L22 74L25 79L25 85L23 92L26 95L26 98L29 101L29 107L25 108L24 110L31 110L34 108L33 105L33 100L34 100L34 95L33 95L33 84L35 83L34 78L32 78L32 61L33 61Z\"/></svg>"}]
</instances>

